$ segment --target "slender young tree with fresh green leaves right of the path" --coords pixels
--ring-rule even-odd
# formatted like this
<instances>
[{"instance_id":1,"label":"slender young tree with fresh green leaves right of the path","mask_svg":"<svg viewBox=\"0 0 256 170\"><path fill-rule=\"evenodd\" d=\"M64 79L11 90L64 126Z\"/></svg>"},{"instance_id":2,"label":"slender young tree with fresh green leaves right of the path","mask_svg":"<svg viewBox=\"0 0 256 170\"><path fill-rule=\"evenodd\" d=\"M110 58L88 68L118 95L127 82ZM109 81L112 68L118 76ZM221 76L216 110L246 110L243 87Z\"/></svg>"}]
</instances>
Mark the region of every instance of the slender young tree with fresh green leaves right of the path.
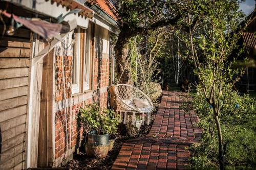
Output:
<instances>
[{"instance_id":1,"label":"slender young tree with fresh green leaves right of the path","mask_svg":"<svg viewBox=\"0 0 256 170\"><path fill-rule=\"evenodd\" d=\"M200 81L198 88L202 90L205 101L212 109L217 129L220 169L224 169L224 142L220 117L232 114L224 108L229 103L228 91L230 92L237 81L233 76L241 74L241 70L231 67L236 59L229 58L237 48L237 40L240 37L236 31L243 13L238 9L237 0L193 1L188 4L186 20L189 30L189 40L186 42L191 49L195 74ZM198 21L196 29L193 30L190 27L193 24L191 19L195 18L198 18Z\"/></svg>"}]
</instances>

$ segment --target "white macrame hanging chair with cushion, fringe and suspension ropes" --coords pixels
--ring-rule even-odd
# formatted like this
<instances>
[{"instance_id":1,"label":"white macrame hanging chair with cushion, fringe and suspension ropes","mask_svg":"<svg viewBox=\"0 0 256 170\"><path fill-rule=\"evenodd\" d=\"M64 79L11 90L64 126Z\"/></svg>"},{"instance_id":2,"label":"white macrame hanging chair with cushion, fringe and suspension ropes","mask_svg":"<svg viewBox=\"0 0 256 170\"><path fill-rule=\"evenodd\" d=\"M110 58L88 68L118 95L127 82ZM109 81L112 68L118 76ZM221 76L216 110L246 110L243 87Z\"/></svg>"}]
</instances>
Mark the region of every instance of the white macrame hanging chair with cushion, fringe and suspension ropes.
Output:
<instances>
[{"instance_id":1,"label":"white macrame hanging chair with cushion, fringe and suspension ropes","mask_svg":"<svg viewBox=\"0 0 256 170\"><path fill-rule=\"evenodd\" d=\"M137 49L135 47L135 49ZM146 115L146 124L149 125L150 124L150 119L151 119L151 112L154 109L153 103L151 101L151 99L141 90L138 89L138 72L137 72L137 63L139 63L140 68L141 68L141 72L142 72L142 76L146 85L146 90L147 90L147 94L149 95L148 92L148 88L147 88L147 84L146 84L146 80L144 77L144 73L143 73L143 69L141 66L141 62L139 57L137 57L138 53L137 50L135 50L135 63L136 63L136 87L129 85L129 84L119 84L120 79L123 75L123 72L127 66L127 63L129 61L129 59L127 59L126 64L123 68L122 74L118 80L117 85L114 88L115 91L115 95L116 95L116 113L120 114L120 123L123 122L123 124L127 124L127 114L132 114L132 125L135 125L136 122L136 115L140 115L141 120L142 120L142 125L144 124L144 118ZM131 63L132 63L132 57L133 56L133 52L134 52L134 48L133 51L130 55L131 58ZM130 67L130 72L129 72L129 81L130 81L130 77L131 77L131 69L132 69L132 64ZM129 82L128 81L128 82ZM138 105L141 106L138 106ZM143 107L144 106L144 107Z\"/></svg>"}]
</instances>

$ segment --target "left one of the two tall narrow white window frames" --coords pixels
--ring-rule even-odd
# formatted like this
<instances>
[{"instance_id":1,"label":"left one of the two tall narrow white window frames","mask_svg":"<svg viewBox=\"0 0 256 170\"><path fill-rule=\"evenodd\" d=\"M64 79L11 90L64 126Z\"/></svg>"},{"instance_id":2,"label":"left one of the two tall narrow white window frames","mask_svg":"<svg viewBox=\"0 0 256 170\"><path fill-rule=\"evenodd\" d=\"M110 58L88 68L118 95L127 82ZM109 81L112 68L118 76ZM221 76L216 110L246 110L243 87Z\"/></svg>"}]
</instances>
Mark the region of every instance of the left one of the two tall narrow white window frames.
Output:
<instances>
[{"instance_id":1,"label":"left one of the two tall narrow white window frames","mask_svg":"<svg viewBox=\"0 0 256 170\"><path fill-rule=\"evenodd\" d=\"M72 94L79 92L79 84L80 84L80 28L77 28L77 33L75 38L75 49L73 54L73 72L75 72L74 75L72 75ZM75 69L75 70L74 70ZM73 83L73 79L75 78L75 83Z\"/></svg>"}]
</instances>

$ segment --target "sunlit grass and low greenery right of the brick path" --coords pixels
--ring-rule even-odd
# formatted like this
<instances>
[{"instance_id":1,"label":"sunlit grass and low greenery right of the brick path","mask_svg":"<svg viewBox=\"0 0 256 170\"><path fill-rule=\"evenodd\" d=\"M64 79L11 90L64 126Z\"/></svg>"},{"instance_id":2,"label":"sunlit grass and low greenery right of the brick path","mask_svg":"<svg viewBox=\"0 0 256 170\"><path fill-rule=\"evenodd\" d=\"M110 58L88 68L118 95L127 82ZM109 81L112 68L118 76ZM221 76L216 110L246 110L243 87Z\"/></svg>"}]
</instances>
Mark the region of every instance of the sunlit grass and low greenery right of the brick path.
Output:
<instances>
[{"instance_id":1,"label":"sunlit grass and low greenery right of the brick path","mask_svg":"<svg viewBox=\"0 0 256 170\"><path fill-rule=\"evenodd\" d=\"M226 90L228 102L220 115L220 122L225 139L224 147L226 168L248 169L255 166L256 135L255 135L255 101L247 94L239 95L232 88ZM195 111L203 129L199 146L191 148L192 169L218 169L218 135L213 114L202 90L193 100Z\"/></svg>"}]
</instances>

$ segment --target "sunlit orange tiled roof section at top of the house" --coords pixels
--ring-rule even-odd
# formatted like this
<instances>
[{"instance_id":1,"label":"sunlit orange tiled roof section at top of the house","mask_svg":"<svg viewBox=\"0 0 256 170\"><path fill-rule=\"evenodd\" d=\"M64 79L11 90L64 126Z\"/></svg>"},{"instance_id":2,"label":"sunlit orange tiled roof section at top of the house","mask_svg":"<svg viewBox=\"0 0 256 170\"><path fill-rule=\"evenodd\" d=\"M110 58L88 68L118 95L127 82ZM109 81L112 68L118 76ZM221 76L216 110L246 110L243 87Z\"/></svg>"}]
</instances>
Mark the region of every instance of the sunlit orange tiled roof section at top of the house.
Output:
<instances>
[{"instance_id":1,"label":"sunlit orange tiled roof section at top of the house","mask_svg":"<svg viewBox=\"0 0 256 170\"><path fill-rule=\"evenodd\" d=\"M98 6L115 21L120 21L117 9L109 0L88 0L87 3Z\"/></svg>"}]
</instances>

